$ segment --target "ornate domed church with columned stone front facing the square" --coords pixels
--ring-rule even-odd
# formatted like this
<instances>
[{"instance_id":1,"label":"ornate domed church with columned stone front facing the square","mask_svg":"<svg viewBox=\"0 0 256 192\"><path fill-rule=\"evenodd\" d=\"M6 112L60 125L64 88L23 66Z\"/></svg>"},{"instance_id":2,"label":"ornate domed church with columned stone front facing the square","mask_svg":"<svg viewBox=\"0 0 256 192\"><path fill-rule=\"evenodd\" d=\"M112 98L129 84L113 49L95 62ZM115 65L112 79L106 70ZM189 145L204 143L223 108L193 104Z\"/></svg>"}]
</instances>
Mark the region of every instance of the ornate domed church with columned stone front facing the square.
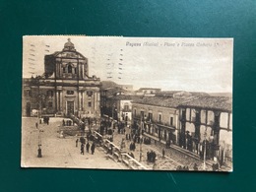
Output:
<instances>
[{"instance_id":1,"label":"ornate domed church with columned stone front facing the square","mask_svg":"<svg viewBox=\"0 0 256 192\"><path fill-rule=\"evenodd\" d=\"M89 77L88 58L68 39L44 56L44 74L23 79L23 115L100 116L99 78ZM36 114L35 114L36 115Z\"/></svg>"}]
</instances>

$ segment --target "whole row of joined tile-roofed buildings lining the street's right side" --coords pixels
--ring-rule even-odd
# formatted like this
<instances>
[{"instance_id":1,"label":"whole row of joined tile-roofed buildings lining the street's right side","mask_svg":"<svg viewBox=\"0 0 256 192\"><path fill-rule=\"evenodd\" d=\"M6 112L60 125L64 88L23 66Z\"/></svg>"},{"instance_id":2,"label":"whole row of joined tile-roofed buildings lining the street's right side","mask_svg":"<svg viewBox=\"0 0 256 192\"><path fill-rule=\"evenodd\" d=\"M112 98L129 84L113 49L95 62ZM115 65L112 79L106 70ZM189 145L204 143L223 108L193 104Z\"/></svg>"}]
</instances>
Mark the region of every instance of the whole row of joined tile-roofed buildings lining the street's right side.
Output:
<instances>
[{"instance_id":1,"label":"whole row of joined tile-roofed buildings lining the street's right side","mask_svg":"<svg viewBox=\"0 0 256 192\"><path fill-rule=\"evenodd\" d=\"M180 92L134 100L132 117L145 136L231 167L231 108L229 96Z\"/></svg>"}]
</instances>

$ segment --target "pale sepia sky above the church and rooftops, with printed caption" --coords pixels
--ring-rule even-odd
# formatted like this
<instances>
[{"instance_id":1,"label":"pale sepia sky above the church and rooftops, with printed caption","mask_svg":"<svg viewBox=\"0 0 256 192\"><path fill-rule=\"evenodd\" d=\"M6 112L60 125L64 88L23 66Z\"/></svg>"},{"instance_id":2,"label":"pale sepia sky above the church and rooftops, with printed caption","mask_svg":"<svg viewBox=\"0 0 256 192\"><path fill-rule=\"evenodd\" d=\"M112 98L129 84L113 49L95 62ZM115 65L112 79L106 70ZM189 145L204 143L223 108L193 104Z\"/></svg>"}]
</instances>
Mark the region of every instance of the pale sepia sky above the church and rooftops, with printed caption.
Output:
<instances>
[{"instance_id":1,"label":"pale sepia sky above the church and rooftops, with printed caption","mask_svg":"<svg viewBox=\"0 0 256 192\"><path fill-rule=\"evenodd\" d=\"M68 38L101 81L162 91L232 93L232 38L24 36L23 77L42 75L44 55Z\"/></svg>"}]
</instances>

